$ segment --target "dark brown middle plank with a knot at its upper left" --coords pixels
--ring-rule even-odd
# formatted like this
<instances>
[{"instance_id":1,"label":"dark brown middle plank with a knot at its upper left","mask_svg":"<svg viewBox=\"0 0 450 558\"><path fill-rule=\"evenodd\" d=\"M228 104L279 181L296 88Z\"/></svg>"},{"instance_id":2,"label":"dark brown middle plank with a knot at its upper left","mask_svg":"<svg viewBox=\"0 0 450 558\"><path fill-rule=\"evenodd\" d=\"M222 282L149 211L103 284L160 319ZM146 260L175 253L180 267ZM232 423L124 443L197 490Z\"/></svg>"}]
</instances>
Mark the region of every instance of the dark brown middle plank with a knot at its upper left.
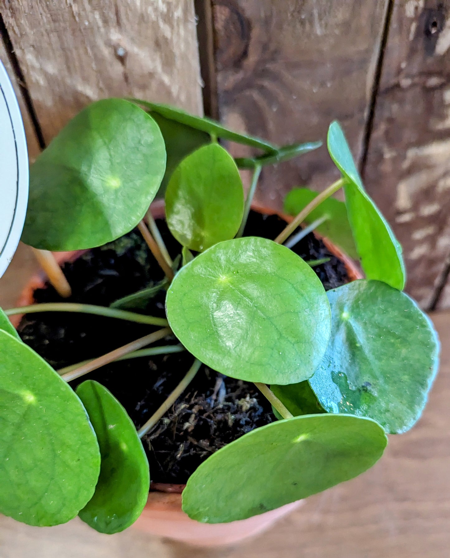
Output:
<instances>
[{"instance_id":1,"label":"dark brown middle plank with a knot at its upper left","mask_svg":"<svg viewBox=\"0 0 450 558\"><path fill-rule=\"evenodd\" d=\"M276 143L324 140L337 118L361 156L387 1L214 0L219 112ZM247 150L236 148L237 155ZM258 200L338 177L325 147L264 168Z\"/></svg>"}]
</instances>

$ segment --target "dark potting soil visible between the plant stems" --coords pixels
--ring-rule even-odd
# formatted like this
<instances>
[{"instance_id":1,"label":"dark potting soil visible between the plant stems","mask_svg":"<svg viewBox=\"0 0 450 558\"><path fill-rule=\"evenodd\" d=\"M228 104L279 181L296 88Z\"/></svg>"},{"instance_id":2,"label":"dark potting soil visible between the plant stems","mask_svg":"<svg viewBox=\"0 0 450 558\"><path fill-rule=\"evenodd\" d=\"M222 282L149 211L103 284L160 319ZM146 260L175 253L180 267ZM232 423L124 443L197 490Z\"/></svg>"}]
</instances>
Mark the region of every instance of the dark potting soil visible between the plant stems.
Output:
<instances>
[{"instance_id":1,"label":"dark potting soil visible between the plant stems","mask_svg":"<svg viewBox=\"0 0 450 558\"><path fill-rule=\"evenodd\" d=\"M163 220L157 221L173 258L181 252ZM275 238L285 227L276 215L250 213L244 235ZM348 281L345 266L323 242L309 234L293 251L306 261L330 258L314 267L326 290ZM54 288L35 291L36 302L83 302L108 306L111 302L153 285L163 272L137 231L65 263L72 286L70 299L61 299ZM147 313L164 317L165 291L154 297ZM42 312L23 317L18 331L55 369L95 358L158 329L153 326L72 312ZM178 344L168 336L157 345ZM126 408L137 428L153 414L177 386L193 362L187 352L111 363L71 383L85 379L106 386ZM176 403L143 438L154 482L186 483L211 453L250 430L275 420L271 406L254 384L228 378L202 366Z\"/></svg>"}]
</instances>

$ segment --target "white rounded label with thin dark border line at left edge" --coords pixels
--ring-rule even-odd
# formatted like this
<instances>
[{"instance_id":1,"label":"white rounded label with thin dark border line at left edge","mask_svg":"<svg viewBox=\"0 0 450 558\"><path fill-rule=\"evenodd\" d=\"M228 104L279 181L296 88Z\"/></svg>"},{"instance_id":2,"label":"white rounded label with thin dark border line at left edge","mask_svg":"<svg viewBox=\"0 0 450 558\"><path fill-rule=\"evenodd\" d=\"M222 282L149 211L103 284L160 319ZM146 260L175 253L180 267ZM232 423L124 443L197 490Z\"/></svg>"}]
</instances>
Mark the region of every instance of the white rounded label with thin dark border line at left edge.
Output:
<instances>
[{"instance_id":1,"label":"white rounded label with thin dark border line at left edge","mask_svg":"<svg viewBox=\"0 0 450 558\"><path fill-rule=\"evenodd\" d=\"M22 234L28 201L28 155L22 117L0 61L0 277Z\"/></svg>"}]
</instances>

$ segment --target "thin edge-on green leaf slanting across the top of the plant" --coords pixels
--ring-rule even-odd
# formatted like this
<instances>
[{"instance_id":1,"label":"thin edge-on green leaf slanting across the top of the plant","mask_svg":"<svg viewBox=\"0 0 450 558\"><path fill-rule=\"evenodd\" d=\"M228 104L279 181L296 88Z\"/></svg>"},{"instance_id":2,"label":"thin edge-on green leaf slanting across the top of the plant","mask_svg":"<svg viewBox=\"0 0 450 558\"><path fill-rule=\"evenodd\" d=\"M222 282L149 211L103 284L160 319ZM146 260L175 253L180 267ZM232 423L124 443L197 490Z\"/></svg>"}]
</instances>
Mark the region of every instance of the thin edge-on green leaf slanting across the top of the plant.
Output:
<instances>
[{"instance_id":1,"label":"thin edge-on green leaf slanting across the top of the plant","mask_svg":"<svg viewBox=\"0 0 450 558\"><path fill-rule=\"evenodd\" d=\"M168 120L179 122L180 124L184 124L190 128L211 134L212 136L223 138L224 140L234 141L236 143L243 143L243 145L248 145L250 147L258 147L268 153L276 153L278 151L277 147L273 146L271 143L260 140L259 138L247 136L246 134L233 132L222 126L220 122L216 122L206 117L195 116L195 114L189 114L184 112L181 108L170 107L169 105L161 103L149 103L148 101L144 101L142 99L130 100L133 103L149 109L152 113L157 112Z\"/></svg>"}]
</instances>

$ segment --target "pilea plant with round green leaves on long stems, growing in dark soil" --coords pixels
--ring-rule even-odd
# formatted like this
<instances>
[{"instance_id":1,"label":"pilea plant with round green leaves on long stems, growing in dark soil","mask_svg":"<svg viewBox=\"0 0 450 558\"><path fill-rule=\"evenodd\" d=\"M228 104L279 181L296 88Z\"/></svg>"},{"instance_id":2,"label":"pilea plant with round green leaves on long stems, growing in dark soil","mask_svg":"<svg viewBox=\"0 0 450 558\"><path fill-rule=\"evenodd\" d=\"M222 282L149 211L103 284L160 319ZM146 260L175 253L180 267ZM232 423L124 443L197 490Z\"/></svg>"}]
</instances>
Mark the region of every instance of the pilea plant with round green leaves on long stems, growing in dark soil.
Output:
<instances>
[{"instance_id":1,"label":"pilea plant with round green leaves on long stems, growing in dark soil","mask_svg":"<svg viewBox=\"0 0 450 558\"><path fill-rule=\"evenodd\" d=\"M262 153L233 160L219 138ZM342 177L320 194L293 190L286 224L250 213L259 173L320 143L276 147L136 99L93 103L50 143L31 167L22 239L98 248L65 268L76 302L46 288L0 316L0 512L39 526L78 514L115 533L143 512L152 479L176 505L182 491L196 522L272 521L363 473L386 434L415 424L437 335L402 292L401 248L337 122L327 144ZM253 170L245 200L238 167ZM147 213L161 186L166 224ZM313 229L366 278L346 282L329 252L318 261ZM347 273L334 284L330 258Z\"/></svg>"}]
</instances>

